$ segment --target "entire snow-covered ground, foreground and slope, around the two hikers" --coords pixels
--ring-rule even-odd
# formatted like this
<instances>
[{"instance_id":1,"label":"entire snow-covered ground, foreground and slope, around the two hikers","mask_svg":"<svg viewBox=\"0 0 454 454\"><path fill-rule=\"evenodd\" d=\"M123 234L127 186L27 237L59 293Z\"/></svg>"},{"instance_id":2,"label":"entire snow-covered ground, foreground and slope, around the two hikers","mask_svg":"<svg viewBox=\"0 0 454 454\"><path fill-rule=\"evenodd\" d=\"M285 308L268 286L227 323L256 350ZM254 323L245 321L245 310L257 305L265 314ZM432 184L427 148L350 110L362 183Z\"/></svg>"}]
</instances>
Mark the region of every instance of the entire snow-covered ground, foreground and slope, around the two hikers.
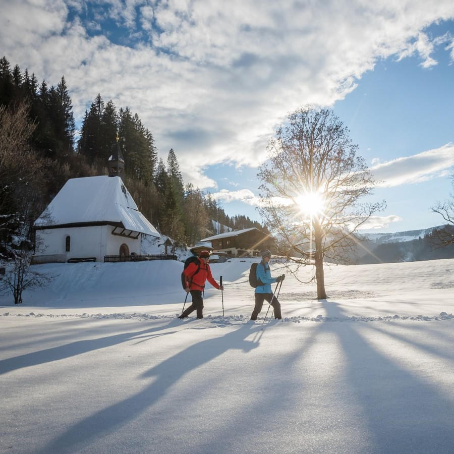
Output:
<instances>
[{"instance_id":1,"label":"entire snow-covered ground, foreground and slope, around the two hikers","mask_svg":"<svg viewBox=\"0 0 454 454\"><path fill-rule=\"evenodd\" d=\"M264 324L249 266L182 321L181 262L39 265L0 297L0 452L453 452L454 260L288 276Z\"/></svg>"}]
</instances>

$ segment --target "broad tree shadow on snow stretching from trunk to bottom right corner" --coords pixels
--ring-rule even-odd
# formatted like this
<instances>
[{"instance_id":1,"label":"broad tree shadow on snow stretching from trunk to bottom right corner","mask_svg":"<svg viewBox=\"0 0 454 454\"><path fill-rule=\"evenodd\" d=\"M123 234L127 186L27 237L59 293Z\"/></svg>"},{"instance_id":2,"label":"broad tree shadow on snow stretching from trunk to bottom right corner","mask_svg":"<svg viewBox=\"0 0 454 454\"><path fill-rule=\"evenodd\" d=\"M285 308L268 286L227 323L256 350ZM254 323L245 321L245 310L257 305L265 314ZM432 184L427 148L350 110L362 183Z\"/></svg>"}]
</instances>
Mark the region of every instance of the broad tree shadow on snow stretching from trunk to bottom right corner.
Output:
<instances>
[{"instance_id":1,"label":"broad tree shadow on snow stretching from trunk to bottom right corner","mask_svg":"<svg viewBox=\"0 0 454 454\"><path fill-rule=\"evenodd\" d=\"M345 317L340 305L323 301L328 317ZM434 385L405 370L371 346L360 322L326 322L345 353L348 382L369 426L367 452L452 452L454 406Z\"/></svg>"}]
</instances>

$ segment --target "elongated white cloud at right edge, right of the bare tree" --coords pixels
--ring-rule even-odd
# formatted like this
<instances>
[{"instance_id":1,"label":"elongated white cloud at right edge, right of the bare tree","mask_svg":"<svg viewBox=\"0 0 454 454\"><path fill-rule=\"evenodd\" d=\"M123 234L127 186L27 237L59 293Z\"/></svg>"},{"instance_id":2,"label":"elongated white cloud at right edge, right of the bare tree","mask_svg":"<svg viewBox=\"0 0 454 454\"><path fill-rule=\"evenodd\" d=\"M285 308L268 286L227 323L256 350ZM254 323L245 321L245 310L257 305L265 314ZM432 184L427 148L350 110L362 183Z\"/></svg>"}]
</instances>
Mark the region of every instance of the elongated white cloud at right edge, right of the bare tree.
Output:
<instances>
[{"instance_id":1,"label":"elongated white cloud at right edge, right of the bare tree","mask_svg":"<svg viewBox=\"0 0 454 454\"><path fill-rule=\"evenodd\" d=\"M375 180L381 181L378 186L389 188L444 177L452 166L454 144L448 143L434 150L375 165L369 170Z\"/></svg>"}]
</instances>

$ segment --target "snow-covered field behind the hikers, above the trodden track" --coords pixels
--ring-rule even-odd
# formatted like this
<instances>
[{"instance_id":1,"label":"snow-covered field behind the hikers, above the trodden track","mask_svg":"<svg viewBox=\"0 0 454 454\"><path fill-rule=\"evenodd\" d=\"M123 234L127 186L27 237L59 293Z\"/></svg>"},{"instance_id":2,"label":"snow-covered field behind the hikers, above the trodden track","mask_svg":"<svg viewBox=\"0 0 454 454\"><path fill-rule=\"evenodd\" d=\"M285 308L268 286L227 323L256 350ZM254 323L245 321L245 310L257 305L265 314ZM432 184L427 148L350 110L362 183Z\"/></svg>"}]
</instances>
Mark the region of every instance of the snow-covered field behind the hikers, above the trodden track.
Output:
<instances>
[{"instance_id":1,"label":"snow-covered field behind the hikers, above the trodden track","mask_svg":"<svg viewBox=\"0 0 454 454\"><path fill-rule=\"evenodd\" d=\"M259 259L230 259L211 264L214 278L222 276L225 290L225 313L247 317L252 311L254 290L249 286L248 272ZM73 313L96 314L100 311L147 311L155 315L181 312L185 292L180 275L183 263L176 260L123 263L59 263L33 265L54 276L45 288L24 291L24 304L14 307L11 296L1 296L0 304L27 313L33 308L71 308ZM326 316L315 300L314 283L305 285L289 274L285 263L271 261L274 275L286 273L279 299L285 301L284 316ZM301 267L297 276L308 281L311 266ZM454 300L454 259L430 262L387 263L378 265L326 265L325 283L330 299L348 301L346 316L415 315L406 301L418 300L416 315L438 316L452 312ZM274 287L274 286L273 286ZM206 313L219 315L220 292L207 283ZM59 310L61 313L61 311Z\"/></svg>"}]
</instances>

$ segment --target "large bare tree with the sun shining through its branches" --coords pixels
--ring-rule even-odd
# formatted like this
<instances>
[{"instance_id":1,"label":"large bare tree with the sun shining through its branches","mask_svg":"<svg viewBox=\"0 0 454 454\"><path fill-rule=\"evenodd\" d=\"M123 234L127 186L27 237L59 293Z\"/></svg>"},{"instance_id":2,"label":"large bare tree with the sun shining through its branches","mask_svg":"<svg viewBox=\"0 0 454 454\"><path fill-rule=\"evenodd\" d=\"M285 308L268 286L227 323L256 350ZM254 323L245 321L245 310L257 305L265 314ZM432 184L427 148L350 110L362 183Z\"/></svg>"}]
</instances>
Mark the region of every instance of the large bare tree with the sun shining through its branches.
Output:
<instances>
[{"instance_id":1,"label":"large bare tree with the sun shining through its branches","mask_svg":"<svg viewBox=\"0 0 454 454\"><path fill-rule=\"evenodd\" d=\"M359 226L385 206L360 203L376 182L357 149L331 110L305 106L270 141L258 174L259 211L277 251L298 265L315 265L318 299L326 298L324 259L345 262L360 241Z\"/></svg>"}]
</instances>

